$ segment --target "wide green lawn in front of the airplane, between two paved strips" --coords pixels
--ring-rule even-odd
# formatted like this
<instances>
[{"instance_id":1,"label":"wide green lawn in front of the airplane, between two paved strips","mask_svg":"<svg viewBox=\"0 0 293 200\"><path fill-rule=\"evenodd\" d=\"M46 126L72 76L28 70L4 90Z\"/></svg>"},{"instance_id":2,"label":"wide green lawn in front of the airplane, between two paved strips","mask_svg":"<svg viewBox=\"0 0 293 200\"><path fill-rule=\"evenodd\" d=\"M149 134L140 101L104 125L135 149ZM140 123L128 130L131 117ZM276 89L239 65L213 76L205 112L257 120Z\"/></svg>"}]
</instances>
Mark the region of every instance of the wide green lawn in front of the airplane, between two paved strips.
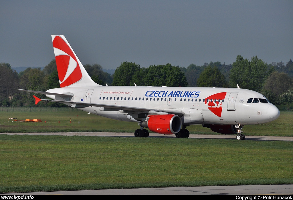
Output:
<instances>
[{"instance_id":1,"label":"wide green lawn in front of the airplane, between two paved strips","mask_svg":"<svg viewBox=\"0 0 293 200\"><path fill-rule=\"evenodd\" d=\"M0 193L293 183L287 141L0 135Z\"/></svg>"}]
</instances>

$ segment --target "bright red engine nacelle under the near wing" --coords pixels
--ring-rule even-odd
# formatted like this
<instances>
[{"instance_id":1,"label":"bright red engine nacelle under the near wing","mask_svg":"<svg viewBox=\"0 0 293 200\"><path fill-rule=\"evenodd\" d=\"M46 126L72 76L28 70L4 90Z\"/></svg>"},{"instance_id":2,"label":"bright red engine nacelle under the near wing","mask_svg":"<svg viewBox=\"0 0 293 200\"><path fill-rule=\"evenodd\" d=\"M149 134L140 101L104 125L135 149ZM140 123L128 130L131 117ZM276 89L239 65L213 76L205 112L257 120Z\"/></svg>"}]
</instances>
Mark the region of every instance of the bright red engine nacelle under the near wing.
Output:
<instances>
[{"instance_id":1,"label":"bright red engine nacelle under the near wing","mask_svg":"<svg viewBox=\"0 0 293 200\"><path fill-rule=\"evenodd\" d=\"M142 127L160 134L175 134L181 129L182 121L178 115L151 115L147 121L141 123Z\"/></svg>"}]
</instances>

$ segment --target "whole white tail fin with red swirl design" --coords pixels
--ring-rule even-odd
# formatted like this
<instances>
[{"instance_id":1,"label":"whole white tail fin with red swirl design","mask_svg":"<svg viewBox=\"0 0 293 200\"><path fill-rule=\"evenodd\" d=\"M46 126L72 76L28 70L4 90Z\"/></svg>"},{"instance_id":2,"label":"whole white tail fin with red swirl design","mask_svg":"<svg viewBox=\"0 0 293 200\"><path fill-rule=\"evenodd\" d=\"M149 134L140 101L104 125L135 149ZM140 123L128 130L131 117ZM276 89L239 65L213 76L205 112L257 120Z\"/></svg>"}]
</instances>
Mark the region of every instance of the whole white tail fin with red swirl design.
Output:
<instances>
[{"instance_id":1,"label":"whole white tail fin with red swirl design","mask_svg":"<svg viewBox=\"0 0 293 200\"><path fill-rule=\"evenodd\" d=\"M99 86L88 75L64 35L51 35L60 87Z\"/></svg>"}]
</instances>

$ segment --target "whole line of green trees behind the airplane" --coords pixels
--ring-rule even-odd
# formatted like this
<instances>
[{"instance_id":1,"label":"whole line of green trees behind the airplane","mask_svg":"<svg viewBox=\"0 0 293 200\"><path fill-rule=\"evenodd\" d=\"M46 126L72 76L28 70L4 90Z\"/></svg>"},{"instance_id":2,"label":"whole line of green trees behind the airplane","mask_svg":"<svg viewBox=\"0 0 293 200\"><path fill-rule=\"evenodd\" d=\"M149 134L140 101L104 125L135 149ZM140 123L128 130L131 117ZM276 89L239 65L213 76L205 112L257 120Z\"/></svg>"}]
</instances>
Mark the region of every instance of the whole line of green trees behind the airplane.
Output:
<instances>
[{"instance_id":1,"label":"whole line of green trees behind the airplane","mask_svg":"<svg viewBox=\"0 0 293 200\"><path fill-rule=\"evenodd\" d=\"M151 65L143 68L137 63L123 62L113 75L98 64L84 65L91 78L100 85L171 86L171 87L237 87L264 94L280 110L293 110L293 62L265 63L254 56L251 60L237 56L232 64L221 62L190 64L187 68ZM60 87L55 60L43 70L27 68L17 73L9 63L0 63L0 106L32 106L32 93L16 89L45 91ZM40 98L46 98L38 94ZM40 106L61 106L56 103Z\"/></svg>"}]
</instances>

